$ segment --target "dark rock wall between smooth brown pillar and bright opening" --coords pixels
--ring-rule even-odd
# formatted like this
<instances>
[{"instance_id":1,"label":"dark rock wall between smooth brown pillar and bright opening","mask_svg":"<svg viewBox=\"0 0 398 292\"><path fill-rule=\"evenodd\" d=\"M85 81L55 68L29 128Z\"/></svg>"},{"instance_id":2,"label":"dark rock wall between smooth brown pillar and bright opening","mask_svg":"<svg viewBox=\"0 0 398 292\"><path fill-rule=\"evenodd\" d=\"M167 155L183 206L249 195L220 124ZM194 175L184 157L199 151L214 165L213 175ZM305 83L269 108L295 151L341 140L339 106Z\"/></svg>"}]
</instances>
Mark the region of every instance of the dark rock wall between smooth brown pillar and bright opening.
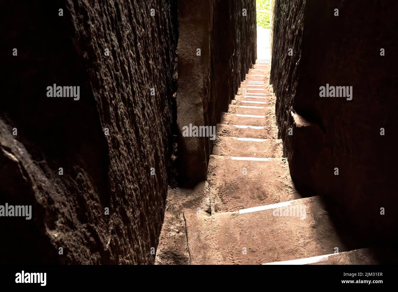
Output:
<instances>
[{"instance_id":1,"label":"dark rock wall between smooth brown pillar and bright opening","mask_svg":"<svg viewBox=\"0 0 398 292\"><path fill-rule=\"evenodd\" d=\"M211 14L211 94L205 120L215 125L256 63L256 1L213 1Z\"/></svg>"}]
</instances>

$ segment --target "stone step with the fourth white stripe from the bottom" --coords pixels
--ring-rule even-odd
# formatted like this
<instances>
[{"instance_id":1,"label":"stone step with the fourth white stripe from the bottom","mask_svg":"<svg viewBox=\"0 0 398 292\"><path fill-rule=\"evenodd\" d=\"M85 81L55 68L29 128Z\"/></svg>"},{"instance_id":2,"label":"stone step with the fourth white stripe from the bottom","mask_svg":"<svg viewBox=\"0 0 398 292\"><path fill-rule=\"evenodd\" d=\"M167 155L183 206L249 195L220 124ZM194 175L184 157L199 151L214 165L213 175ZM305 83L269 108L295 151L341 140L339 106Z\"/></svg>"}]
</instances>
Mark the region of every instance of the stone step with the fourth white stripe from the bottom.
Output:
<instances>
[{"instance_id":1,"label":"stone step with the fourth white stripe from the bottom","mask_svg":"<svg viewBox=\"0 0 398 292\"><path fill-rule=\"evenodd\" d=\"M282 139L216 136L213 155L234 157L282 157Z\"/></svg>"}]
</instances>

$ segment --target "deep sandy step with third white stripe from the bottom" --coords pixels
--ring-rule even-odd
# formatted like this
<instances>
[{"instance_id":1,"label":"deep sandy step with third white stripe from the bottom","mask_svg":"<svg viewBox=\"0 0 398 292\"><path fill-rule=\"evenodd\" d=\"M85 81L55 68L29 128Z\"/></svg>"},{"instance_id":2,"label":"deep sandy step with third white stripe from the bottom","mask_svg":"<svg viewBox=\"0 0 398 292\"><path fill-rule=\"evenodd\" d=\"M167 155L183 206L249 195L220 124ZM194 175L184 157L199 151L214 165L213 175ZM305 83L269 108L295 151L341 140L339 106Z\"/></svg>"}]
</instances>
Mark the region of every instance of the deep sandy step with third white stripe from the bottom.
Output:
<instances>
[{"instance_id":1,"label":"deep sandy step with third white stripe from the bottom","mask_svg":"<svg viewBox=\"0 0 398 292\"><path fill-rule=\"evenodd\" d=\"M287 159L210 155L212 214L297 199Z\"/></svg>"}]
</instances>

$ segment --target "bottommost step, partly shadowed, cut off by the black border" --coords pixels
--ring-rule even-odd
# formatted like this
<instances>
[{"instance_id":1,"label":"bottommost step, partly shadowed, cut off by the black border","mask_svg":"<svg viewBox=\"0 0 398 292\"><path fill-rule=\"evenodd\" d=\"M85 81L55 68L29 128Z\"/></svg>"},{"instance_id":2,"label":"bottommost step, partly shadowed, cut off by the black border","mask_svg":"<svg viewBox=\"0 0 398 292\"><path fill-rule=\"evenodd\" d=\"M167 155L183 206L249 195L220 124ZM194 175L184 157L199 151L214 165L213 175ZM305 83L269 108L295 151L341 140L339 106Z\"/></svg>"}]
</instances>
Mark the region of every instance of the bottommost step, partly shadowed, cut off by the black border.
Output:
<instances>
[{"instance_id":1,"label":"bottommost step, partly shadowed, cut off by the black border","mask_svg":"<svg viewBox=\"0 0 398 292\"><path fill-rule=\"evenodd\" d=\"M329 255L318 255L291 261L278 261L265 263L263 265L378 265L370 248L354 249Z\"/></svg>"}]
</instances>

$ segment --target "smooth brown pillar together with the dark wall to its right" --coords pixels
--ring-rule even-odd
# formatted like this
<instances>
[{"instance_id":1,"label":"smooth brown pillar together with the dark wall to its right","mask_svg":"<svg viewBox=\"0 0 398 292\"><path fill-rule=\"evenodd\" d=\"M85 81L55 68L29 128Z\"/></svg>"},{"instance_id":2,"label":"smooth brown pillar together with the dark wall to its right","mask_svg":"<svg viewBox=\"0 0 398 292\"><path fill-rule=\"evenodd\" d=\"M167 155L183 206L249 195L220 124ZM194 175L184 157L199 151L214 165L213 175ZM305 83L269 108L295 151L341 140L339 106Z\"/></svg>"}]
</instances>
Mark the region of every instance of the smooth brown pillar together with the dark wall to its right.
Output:
<instances>
[{"instance_id":1,"label":"smooth brown pillar together with the dark wall to its right","mask_svg":"<svg viewBox=\"0 0 398 292\"><path fill-rule=\"evenodd\" d=\"M179 175L182 184L194 186L206 179L213 141L183 137L182 128L216 126L255 63L256 2L180 0L178 28Z\"/></svg>"}]
</instances>

